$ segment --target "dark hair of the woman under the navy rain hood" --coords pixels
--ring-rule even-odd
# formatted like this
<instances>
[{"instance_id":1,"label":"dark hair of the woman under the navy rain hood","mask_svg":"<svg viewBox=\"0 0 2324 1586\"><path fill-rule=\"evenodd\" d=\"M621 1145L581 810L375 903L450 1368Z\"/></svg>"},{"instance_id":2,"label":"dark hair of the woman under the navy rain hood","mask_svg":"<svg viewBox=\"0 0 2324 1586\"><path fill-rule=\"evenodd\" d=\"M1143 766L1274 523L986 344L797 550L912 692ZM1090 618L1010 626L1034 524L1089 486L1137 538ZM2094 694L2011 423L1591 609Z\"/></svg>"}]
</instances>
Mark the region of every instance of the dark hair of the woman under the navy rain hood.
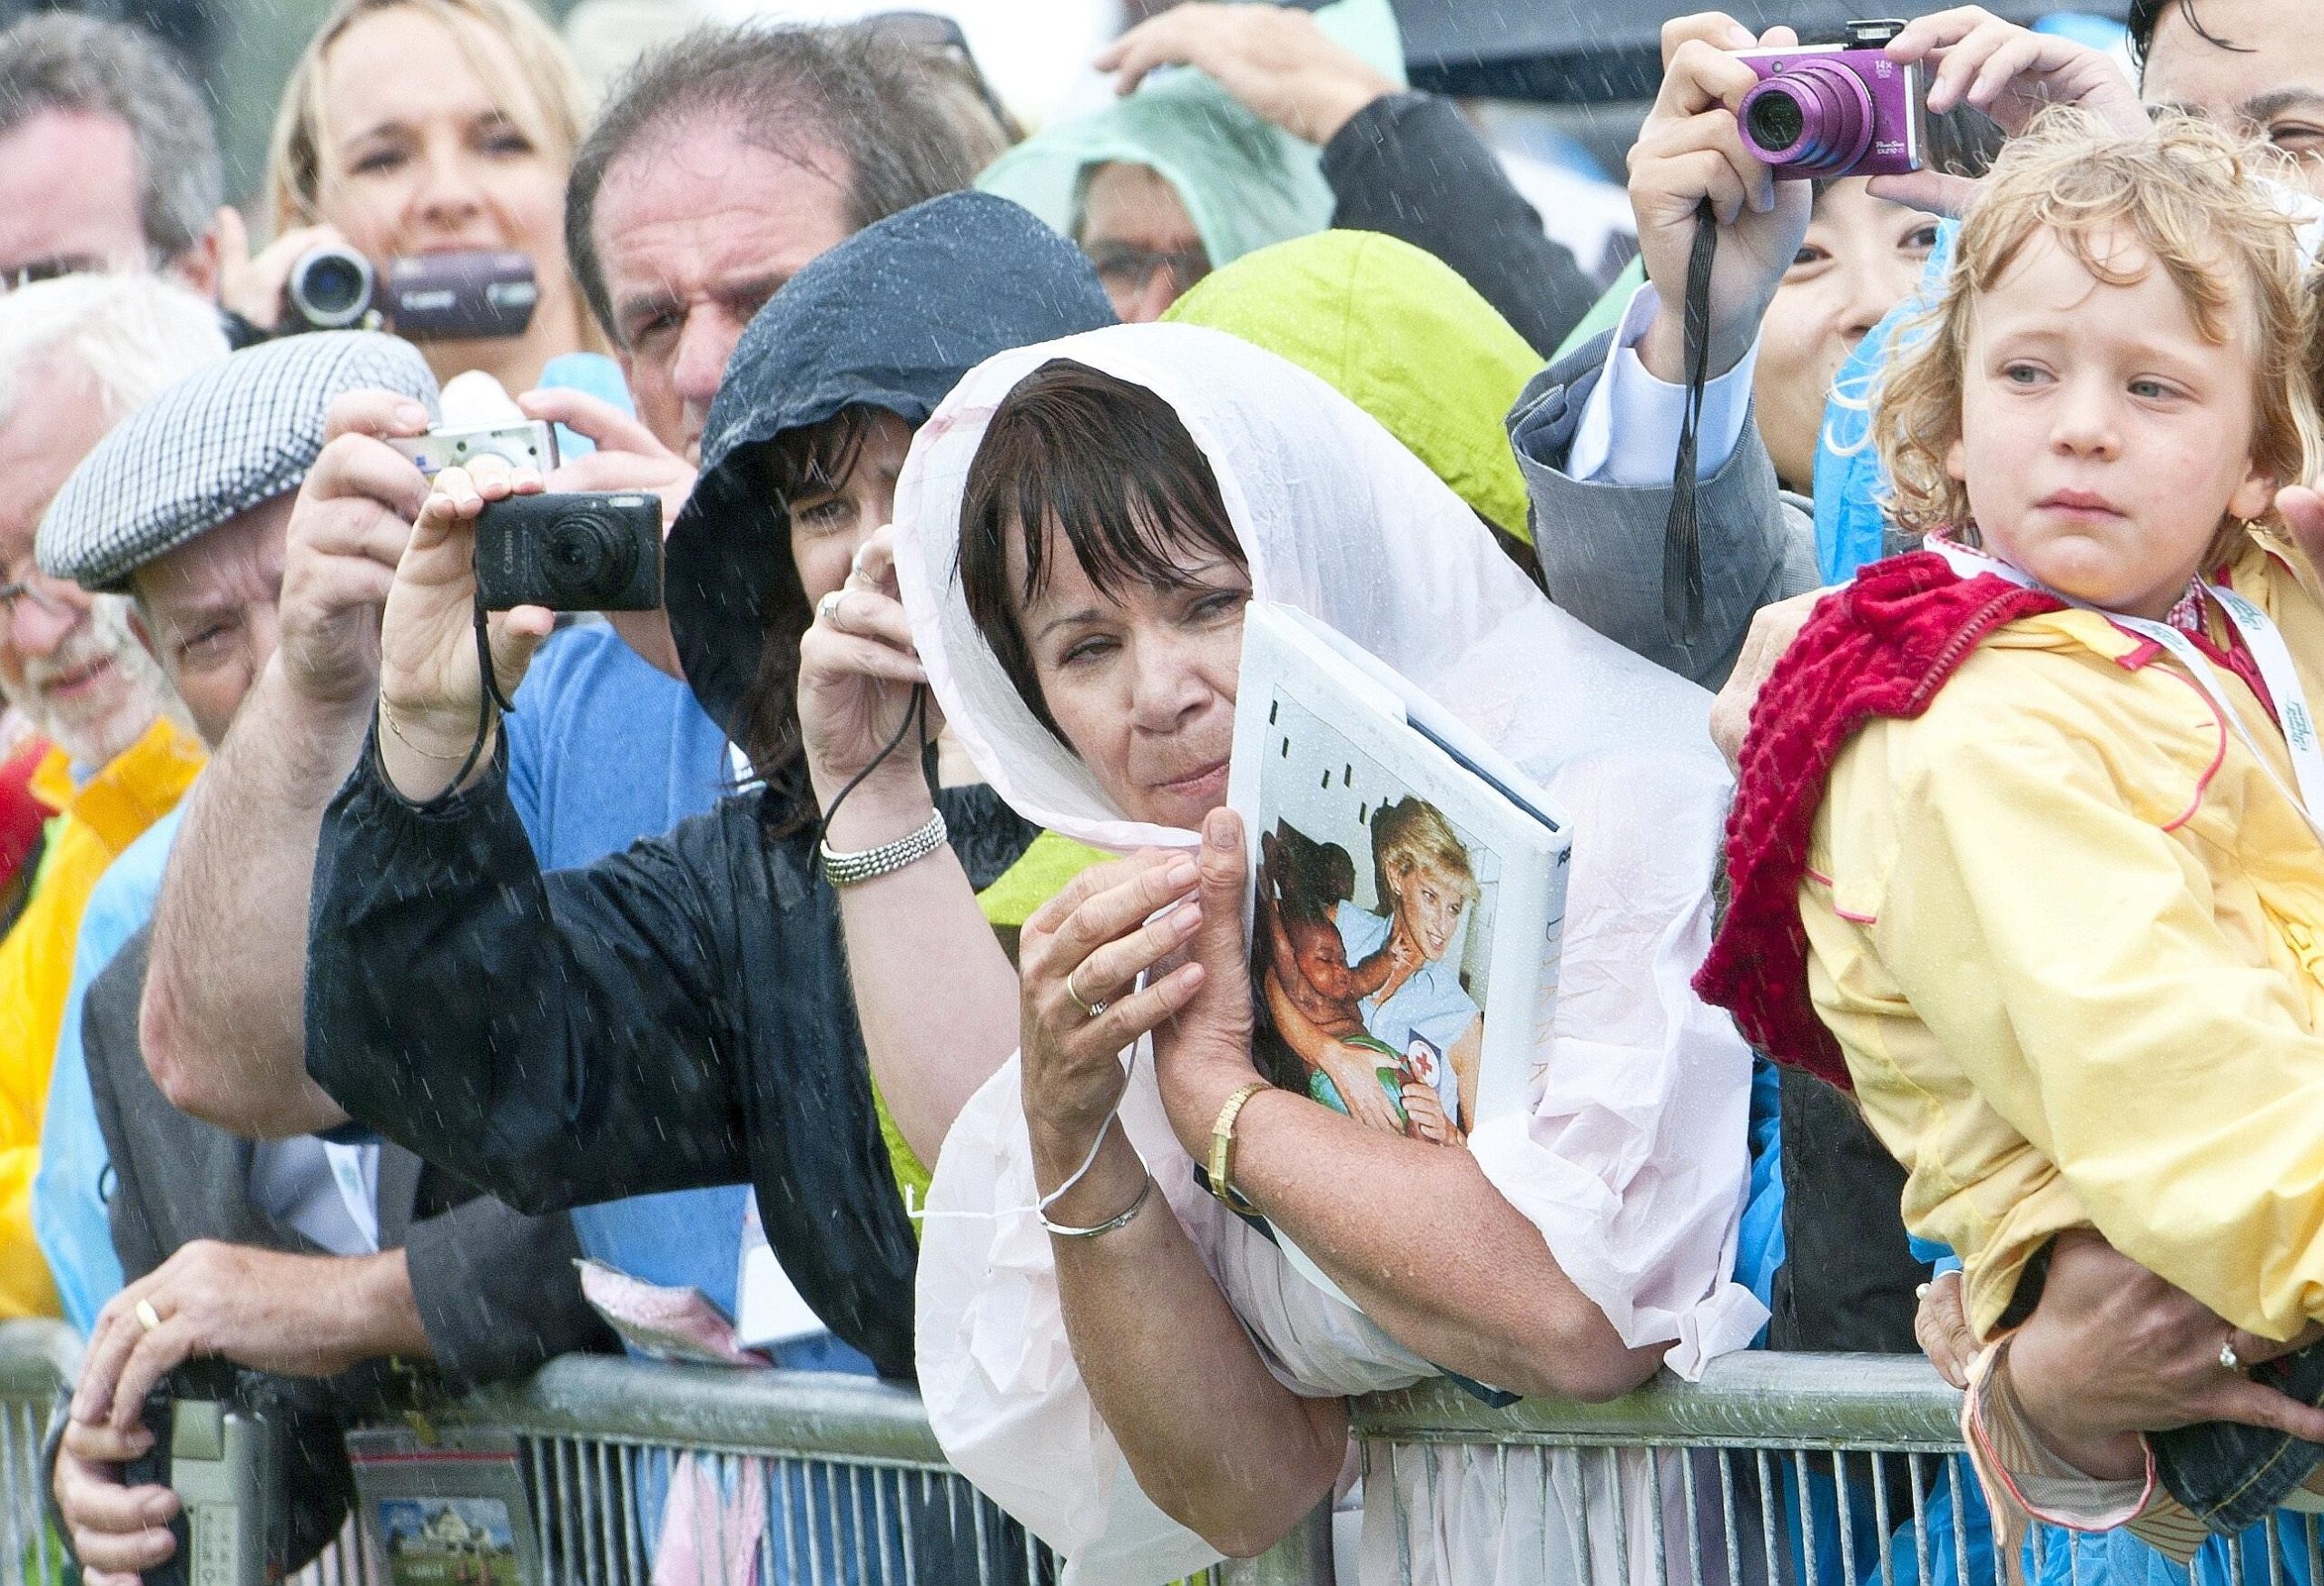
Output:
<instances>
[{"instance_id":1,"label":"dark hair of the woman under the navy rain hood","mask_svg":"<svg viewBox=\"0 0 2324 1586\"><path fill-rule=\"evenodd\" d=\"M818 425L783 430L744 453L739 467L746 488L783 520L786 534L792 502L848 483L874 418L874 409L844 406ZM737 741L762 783L776 783L799 759L799 641L816 620L788 539L776 546L774 560L758 673L737 706Z\"/></svg>"}]
</instances>

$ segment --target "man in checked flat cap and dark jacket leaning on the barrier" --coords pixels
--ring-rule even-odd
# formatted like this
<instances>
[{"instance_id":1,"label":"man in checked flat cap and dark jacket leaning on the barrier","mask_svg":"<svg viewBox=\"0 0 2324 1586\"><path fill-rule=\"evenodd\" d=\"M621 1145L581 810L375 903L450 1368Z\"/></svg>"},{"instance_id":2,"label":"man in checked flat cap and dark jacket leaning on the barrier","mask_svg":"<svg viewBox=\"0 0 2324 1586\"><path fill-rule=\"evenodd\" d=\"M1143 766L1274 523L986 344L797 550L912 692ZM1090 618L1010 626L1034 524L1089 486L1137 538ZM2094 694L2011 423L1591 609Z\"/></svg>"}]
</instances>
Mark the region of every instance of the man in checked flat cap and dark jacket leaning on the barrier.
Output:
<instances>
[{"instance_id":1,"label":"man in checked flat cap and dark jacket leaning on the barrier","mask_svg":"<svg viewBox=\"0 0 2324 1586\"><path fill-rule=\"evenodd\" d=\"M274 657L284 569L316 527L297 492L325 413L351 392L430 404L435 379L411 346L370 332L235 353L105 437L42 522L42 569L132 597L137 634L211 748ZM418 469L402 467L418 502ZM125 1488L114 1468L139 1451L146 1391L188 1361L242 1368L237 1396L286 1428L293 1556L277 1563L295 1567L346 1514L346 1423L395 1403L411 1368L469 1386L609 1342L565 1217L521 1217L363 1131L242 1140L153 1087L137 1003L174 834L174 817L158 822L91 896L37 1196L72 1310L102 1307L77 1317L88 1354L51 1482L95 1581L174 1551L174 1495ZM116 1266L91 1245L95 1205Z\"/></svg>"}]
</instances>

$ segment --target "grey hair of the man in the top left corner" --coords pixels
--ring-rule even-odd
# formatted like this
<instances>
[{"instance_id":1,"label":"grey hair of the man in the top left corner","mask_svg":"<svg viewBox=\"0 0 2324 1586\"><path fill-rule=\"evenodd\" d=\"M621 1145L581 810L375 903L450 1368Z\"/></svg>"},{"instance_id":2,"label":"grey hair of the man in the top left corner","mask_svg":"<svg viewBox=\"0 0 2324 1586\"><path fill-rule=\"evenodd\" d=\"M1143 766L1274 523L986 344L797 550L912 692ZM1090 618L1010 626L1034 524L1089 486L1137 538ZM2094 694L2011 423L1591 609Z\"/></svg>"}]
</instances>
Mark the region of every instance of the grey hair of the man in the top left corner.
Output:
<instances>
[{"instance_id":1,"label":"grey hair of the man in the top left corner","mask_svg":"<svg viewBox=\"0 0 2324 1586\"><path fill-rule=\"evenodd\" d=\"M63 12L0 33L0 135L42 111L86 111L128 125L137 146L137 228L156 267L209 235L225 202L218 128L153 35Z\"/></svg>"}]
</instances>

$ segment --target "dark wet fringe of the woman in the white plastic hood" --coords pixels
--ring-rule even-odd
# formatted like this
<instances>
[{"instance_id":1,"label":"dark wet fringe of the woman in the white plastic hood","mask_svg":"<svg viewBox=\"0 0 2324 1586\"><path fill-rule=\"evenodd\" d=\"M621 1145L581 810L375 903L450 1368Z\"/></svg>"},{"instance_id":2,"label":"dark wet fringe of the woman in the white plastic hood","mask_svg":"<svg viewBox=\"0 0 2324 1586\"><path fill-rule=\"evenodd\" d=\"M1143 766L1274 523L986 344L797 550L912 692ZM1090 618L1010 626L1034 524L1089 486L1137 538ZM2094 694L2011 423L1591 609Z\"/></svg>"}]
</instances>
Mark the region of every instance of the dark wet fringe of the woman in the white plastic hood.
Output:
<instances>
[{"instance_id":1,"label":"dark wet fringe of the woman in the white plastic hood","mask_svg":"<svg viewBox=\"0 0 2324 1586\"><path fill-rule=\"evenodd\" d=\"M1009 578L1011 536L1023 536L1023 583ZM1183 557L1250 564L1218 476L1171 404L1069 358L1041 365L992 409L960 499L969 615L1025 708L1064 743L1020 622L1060 548L1109 597L1183 585Z\"/></svg>"}]
</instances>

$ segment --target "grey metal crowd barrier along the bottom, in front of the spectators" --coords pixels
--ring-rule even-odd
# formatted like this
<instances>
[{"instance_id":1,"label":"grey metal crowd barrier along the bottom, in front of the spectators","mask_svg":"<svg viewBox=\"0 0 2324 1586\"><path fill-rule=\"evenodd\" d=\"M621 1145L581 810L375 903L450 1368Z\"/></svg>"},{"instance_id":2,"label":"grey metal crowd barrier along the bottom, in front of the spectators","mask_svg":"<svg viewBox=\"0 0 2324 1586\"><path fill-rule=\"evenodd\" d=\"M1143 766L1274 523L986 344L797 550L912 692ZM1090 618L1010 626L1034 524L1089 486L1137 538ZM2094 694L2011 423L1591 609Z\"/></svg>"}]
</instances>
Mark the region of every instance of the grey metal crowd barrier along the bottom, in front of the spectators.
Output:
<instances>
[{"instance_id":1,"label":"grey metal crowd barrier along the bottom, in front of the spectators","mask_svg":"<svg viewBox=\"0 0 2324 1586\"><path fill-rule=\"evenodd\" d=\"M63 1579L40 1519L40 1435L74 1358L58 1324L0 1326L5 1581ZM1657 1377L1608 1405L1487 1410L1446 1382L1373 1396L1355 1405L1364 1581L2008 1586L1980 1544L1957 1403L1917 1358L1783 1354L1729 1356L1699 1384ZM672 1528L688 1523L681 1579L702 1586L1048 1586L1062 1574L946 1465L909 1391L860 1377L572 1356L430 1423L518 1440L551 1586L653 1586ZM672 1493L683 1484L718 1502L681 1514ZM2061 1547L2071 1556L2047 1551ZM2094 1560L2082 1549L2106 1547L2126 1542L2036 1533L2024 1574L2080 1581ZM1343 1579L1353 1565L1341 1560ZM353 1535L307 1579L388 1586ZM1204 1586L1329 1579L1332 1526L1318 1514ZM2119 1556L2106 1579L2131 1579ZM2308 1516L2215 1542L2192 1572L2192 1586L2259 1581L2324 1586Z\"/></svg>"}]
</instances>

